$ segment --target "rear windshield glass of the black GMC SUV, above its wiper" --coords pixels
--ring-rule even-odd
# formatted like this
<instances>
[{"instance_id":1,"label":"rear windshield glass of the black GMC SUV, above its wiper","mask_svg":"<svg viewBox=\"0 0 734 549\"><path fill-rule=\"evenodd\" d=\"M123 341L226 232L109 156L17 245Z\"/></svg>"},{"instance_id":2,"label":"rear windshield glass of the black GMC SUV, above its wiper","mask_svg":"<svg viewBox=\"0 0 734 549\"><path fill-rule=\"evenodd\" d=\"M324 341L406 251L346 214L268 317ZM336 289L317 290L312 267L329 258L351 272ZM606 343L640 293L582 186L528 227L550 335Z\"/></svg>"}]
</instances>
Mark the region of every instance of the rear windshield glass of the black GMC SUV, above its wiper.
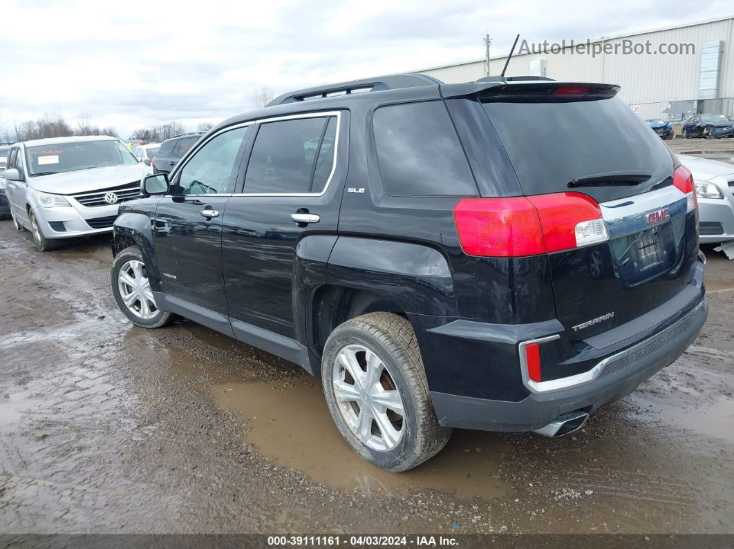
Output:
<instances>
[{"instance_id":1,"label":"rear windshield glass of the black GMC SUV, above its wiper","mask_svg":"<svg viewBox=\"0 0 734 549\"><path fill-rule=\"evenodd\" d=\"M667 147L617 97L483 106L524 194L569 191L571 181L590 175L644 172L653 185L672 175Z\"/></svg>"}]
</instances>

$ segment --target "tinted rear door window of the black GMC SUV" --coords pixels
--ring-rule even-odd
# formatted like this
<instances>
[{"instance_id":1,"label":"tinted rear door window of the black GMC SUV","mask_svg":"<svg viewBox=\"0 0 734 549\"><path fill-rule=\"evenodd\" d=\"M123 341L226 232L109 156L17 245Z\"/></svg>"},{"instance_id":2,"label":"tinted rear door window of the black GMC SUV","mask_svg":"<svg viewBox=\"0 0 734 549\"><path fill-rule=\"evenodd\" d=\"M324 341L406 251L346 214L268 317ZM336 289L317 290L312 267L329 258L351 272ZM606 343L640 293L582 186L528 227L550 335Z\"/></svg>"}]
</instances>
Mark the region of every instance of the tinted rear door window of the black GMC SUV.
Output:
<instances>
[{"instance_id":1,"label":"tinted rear door window of the black GMC SUV","mask_svg":"<svg viewBox=\"0 0 734 549\"><path fill-rule=\"evenodd\" d=\"M260 126L244 178L245 193L308 193L327 117L267 122ZM324 152L327 154L327 152ZM323 187L326 181L319 185Z\"/></svg>"}]
</instances>

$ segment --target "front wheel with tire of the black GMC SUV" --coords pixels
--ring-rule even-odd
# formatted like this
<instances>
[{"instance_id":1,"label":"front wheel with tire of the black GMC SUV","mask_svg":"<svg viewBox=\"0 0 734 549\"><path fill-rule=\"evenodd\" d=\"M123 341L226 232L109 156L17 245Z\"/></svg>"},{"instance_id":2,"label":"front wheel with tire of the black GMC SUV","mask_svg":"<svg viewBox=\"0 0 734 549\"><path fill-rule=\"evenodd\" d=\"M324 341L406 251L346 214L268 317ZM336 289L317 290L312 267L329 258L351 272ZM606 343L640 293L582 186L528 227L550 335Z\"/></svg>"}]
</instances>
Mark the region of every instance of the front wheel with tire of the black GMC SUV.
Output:
<instances>
[{"instance_id":1,"label":"front wheel with tire of the black GMC SUV","mask_svg":"<svg viewBox=\"0 0 734 549\"><path fill-rule=\"evenodd\" d=\"M120 273L126 275L128 279L123 277L121 280ZM131 284L128 284L126 280ZM137 284L133 284L135 281L141 281L141 286L137 287ZM145 276L145 262L137 246L125 248L115 256L110 272L110 284L112 284L112 295L115 295L117 306L134 325L142 328L161 328L176 319L175 314L161 311L156 306L156 301L150 291L150 283ZM147 292L145 292L146 287ZM124 296L123 292L125 292Z\"/></svg>"}]
</instances>

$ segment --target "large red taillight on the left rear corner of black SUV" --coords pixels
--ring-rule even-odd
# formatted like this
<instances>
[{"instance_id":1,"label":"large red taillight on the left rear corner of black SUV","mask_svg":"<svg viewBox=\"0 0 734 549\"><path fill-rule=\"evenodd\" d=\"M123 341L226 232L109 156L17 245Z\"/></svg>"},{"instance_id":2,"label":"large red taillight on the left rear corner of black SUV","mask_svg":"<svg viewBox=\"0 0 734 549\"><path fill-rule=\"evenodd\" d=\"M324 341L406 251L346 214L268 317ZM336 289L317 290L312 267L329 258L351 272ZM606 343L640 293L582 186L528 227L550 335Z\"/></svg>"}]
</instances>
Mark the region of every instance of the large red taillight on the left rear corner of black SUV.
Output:
<instances>
[{"instance_id":1,"label":"large red taillight on the left rear corner of black SUV","mask_svg":"<svg viewBox=\"0 0 734 549\"><path fill-rule=\"evenodd\" d=\"M608 240L599 205L581 193L462 199L454 221L473 256L548 254Z\"/></svg>"}]
</instances>

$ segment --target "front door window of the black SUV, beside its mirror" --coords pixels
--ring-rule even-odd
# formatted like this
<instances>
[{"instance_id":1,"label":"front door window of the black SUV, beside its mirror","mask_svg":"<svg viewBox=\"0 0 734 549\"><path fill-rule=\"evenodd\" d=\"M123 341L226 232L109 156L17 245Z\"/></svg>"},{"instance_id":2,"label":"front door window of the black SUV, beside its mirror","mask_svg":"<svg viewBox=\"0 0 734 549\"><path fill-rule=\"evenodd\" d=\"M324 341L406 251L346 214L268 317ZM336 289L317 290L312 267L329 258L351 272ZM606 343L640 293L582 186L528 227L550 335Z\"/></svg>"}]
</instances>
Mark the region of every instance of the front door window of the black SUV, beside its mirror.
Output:
<instances>
[{"instance_id":1,"label":"front door window of the black SUV, beside its mirror","mask_svg":"<svg viewBox=\"0 0 734 549\"><path fill-rule=\"evenodd\" d=\"M227 193L230 176L247 127L220 133L183 166L175 194Z\"/></svg>"}]
</instances>

